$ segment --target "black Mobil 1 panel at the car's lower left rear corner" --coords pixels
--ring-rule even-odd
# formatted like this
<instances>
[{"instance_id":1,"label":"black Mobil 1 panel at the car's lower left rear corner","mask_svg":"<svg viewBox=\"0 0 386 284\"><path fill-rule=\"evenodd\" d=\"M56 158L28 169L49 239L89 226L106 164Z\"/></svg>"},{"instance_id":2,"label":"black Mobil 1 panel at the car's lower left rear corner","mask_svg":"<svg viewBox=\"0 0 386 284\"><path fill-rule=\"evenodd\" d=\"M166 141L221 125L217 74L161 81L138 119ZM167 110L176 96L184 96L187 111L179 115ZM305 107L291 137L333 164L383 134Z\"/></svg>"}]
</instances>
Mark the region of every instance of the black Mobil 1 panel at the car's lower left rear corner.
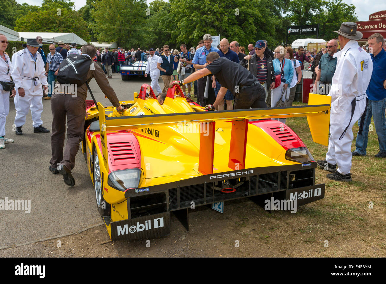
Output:
<instances>
[{"instance_id":1,"label":"black Mobil 1 panel at the car's lower left rear corner","mask_svg":"<svg viewBox=\"0 0 386 284\"><path fill-rule=\"evenodd\" d=\"M166 236L170 232L169 213L167 212L112 222L110 224L112 240L135 240Z\"/></svg>"}]
</instances>

